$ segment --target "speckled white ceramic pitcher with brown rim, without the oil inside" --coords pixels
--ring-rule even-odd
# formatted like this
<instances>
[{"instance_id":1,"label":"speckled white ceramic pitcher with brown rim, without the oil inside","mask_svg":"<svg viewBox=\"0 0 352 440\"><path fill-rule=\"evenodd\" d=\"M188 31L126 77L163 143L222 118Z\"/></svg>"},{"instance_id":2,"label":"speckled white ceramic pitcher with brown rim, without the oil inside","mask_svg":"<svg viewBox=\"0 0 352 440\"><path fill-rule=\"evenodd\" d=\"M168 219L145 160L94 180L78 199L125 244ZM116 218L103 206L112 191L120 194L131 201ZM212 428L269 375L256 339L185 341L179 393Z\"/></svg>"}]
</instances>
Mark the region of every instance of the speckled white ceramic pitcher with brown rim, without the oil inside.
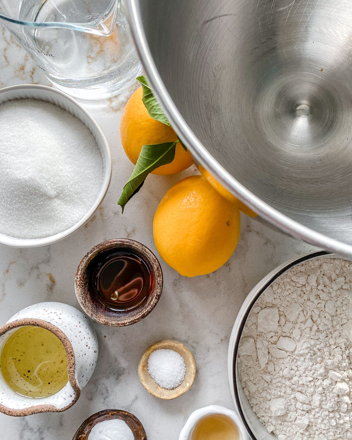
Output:
<instances>
[{"instance_id":1,"label":"speckled white ceramic pitcher with brown rim, without the oil inside","mask_svg":"<svg viewBox=\"0 0 352 440\"><path fill-rule=\"evenodd\" d=\"M98 358L95 331L88 319L70 305L43 302L24 308L0 327L0 352L7 338L22 326L43 327L59 338L67 354L69 380L54 395L33 399L13 391L0 372L0 411L13 416L65 411L77 402L95 369Z\"/></svg>"}]
</instances>

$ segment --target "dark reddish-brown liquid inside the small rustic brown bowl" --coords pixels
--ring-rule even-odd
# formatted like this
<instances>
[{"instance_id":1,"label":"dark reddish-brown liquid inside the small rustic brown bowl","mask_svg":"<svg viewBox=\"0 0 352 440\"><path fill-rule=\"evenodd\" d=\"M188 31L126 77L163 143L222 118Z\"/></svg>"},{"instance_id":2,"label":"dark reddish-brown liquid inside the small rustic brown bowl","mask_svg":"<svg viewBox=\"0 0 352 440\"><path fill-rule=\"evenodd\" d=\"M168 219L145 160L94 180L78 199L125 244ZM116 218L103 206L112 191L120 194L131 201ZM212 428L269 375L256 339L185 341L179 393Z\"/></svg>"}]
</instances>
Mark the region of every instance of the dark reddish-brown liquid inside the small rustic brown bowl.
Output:
<instances>
[{"instance_id":1,"label":"dark reddish-brown liquid inside the small rustic brown bowl","mask_svg":"<svg viewBox=\"0 0 352 440\"><path fill-rule=\"evenodd\" d=\"M99 258L99 256L97 257ZM137 307L148 296L151 284L147 264L136 254L113 250L96 262L92 284L107 307L126 311Z\"/></svg>"}]
</instances>

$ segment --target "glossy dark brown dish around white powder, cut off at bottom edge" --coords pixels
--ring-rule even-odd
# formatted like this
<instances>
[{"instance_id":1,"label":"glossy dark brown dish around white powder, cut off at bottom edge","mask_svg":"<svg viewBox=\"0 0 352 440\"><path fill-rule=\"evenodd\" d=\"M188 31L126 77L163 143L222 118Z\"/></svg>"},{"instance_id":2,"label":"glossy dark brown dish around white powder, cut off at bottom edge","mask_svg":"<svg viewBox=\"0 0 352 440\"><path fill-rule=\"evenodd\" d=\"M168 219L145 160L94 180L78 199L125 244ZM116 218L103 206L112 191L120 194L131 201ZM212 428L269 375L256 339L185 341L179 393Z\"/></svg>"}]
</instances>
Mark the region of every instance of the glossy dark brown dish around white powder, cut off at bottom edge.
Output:
<instances>
[{"instance_id":1,"label":"glossy dark brown dish around white powder, cut off at bottom edge","mask_svg":"<svg viewBox=\"0 0 352 440\"><path fill-rule=\"evenodd\" d=\"M132 430L135 440L147 440L147 434L138 418L136 418L135 415L122 410L103 410L91 415L84 420L72 440L87 440L92 428L97 423L114 418L123 420L126 423L126 425Z\"/></svg>"}]
</instances>

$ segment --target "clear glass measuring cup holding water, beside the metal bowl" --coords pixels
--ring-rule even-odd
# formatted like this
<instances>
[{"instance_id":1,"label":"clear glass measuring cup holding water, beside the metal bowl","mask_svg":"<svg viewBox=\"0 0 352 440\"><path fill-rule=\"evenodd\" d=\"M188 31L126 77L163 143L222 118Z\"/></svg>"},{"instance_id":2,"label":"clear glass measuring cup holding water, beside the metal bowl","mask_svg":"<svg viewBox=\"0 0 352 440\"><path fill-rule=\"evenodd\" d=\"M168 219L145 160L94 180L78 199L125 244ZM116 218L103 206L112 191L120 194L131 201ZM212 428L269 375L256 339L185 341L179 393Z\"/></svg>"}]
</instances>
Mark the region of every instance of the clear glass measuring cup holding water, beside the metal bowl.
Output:
<instances>
[{"instance_id":1,"label":"clear glass measuring cup holding water, beside the metal bowl","mask_svg":"<svg viewBox=\"0 0 352 440\"><path fill-rule=\"evenodd\" d=\"M0 0L0 20L69 95L116 95L142 70L121 0Z\"/></svg>"}]
</instances>

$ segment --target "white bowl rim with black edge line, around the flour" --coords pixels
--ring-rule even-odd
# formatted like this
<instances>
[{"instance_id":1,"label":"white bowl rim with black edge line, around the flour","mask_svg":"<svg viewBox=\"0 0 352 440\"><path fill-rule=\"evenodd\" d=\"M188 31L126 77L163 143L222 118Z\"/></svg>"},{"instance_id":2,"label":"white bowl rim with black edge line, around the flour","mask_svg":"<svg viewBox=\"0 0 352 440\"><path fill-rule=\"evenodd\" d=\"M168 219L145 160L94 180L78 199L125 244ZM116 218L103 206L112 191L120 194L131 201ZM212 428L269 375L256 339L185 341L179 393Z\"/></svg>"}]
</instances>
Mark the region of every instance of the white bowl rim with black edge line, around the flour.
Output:
<instances>
[{"instance_id":1,"label":"white bowl rim with black edge line, around the flour","mask_svg":"<svg viewBox=\"0 0 352 440\"><path fill-rule=\"evenodd\" d=\"M246 416L244 411L242 410L241 403L238 398L237 385L236 385L236 365L237 365L237 353L238 353L238 345L241 339L242 331L244 328L244 323L246 322L249 312L252 310L254 304L257 302L257 299L260 295L270 286L276 279L278 279L282 274L287 272L289 269L297 266L297 264L304 263L304 261L315 260L318 258L341 258L341 260L346 260L346 258L336 255L335 253L331 253L329 251L321 250L314 251L308 254L304 254L301 257L295 257L291 260L286 261L285 263L280 264L278 267L273 269L268 275L264 276L249 292L246 296L246 299L243 301L242 306L237 314L234 326L232 327L228 351L227 351L227 371L228 378L230 383L231 395L232 399L235 403L236 411L241 418L243 425L245 426L249 438L251 440L257 440L252 429L247 423ZM276 439L275 436L271 434L273 439Z\"/></svg>"}]
</instances>

